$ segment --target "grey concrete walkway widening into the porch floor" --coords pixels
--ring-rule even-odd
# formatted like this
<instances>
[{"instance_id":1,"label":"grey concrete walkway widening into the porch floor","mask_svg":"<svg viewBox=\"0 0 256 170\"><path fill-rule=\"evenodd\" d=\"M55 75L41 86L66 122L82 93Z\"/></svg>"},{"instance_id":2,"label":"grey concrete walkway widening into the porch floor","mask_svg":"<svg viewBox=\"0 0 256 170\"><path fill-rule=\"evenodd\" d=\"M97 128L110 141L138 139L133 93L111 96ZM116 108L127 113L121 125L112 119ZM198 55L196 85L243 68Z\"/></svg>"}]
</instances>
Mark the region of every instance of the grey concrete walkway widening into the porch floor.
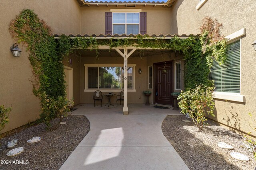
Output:
<instances>
[{"instance_id":1,"label":"grey concrete walkway widening into the porch floor","mask_svg":"<svg viewBox=\"0 0 256 170\"><path fill-rule=\"evenodd\" d=\"M162 133L166 115L177 111L132 105L130 114L122 115L122 106L92 107L72 112L84 114L91 129L60 170L189 169Z\"/></svg>"}]
</instances>

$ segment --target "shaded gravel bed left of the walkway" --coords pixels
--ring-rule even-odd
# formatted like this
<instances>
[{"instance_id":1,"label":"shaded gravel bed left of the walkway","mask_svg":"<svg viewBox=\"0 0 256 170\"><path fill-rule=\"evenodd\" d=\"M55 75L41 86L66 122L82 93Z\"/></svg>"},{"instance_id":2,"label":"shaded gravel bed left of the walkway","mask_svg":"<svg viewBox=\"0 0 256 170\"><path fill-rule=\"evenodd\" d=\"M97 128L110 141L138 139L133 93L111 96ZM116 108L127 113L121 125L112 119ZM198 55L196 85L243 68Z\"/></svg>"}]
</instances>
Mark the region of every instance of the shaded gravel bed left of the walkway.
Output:
<instances>
[{"instance_id":1,"label":"shaded gravel bed left of the walkway","mask_svg":"<svg viewBox=\"0 0 256 170\"><path fill-rule=\"evenodd\" d=\"M46 131L46 126L40 123L0 139L0 170L58 170L90 129L90 122L84 116L70 115L63 121L66 124L56 131ZM41 141L27 143L36 136L41 137ZM12 139L18 139L14 148L24 147L24 151L8 157L6 153L11 149L7 144ZM20 162L14 163L16 160Z\"/></svg>"}]
</instances>

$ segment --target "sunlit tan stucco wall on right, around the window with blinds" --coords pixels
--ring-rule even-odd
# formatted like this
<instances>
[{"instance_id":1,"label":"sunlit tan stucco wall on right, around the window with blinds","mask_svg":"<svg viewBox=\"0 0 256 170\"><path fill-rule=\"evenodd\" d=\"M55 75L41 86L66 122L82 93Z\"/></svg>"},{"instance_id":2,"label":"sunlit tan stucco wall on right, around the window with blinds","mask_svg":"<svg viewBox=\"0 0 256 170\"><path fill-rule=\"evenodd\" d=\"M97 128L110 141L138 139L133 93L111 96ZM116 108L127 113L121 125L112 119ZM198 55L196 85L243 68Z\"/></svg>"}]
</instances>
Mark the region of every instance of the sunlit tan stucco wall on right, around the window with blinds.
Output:
<instances>
[{"instance_id":1,"label":"sunlit tan stucco wall on right, around the window with blinds","mask_svg":"<svg viewBox=\"0 0 256 170\"><path fill-rule=\"evenodd\" d=\"M196 10L198 0L176 0L172 8L172 33L199 33L199 27L204 17L216 18L223 23L222 35L227 36L242 28L246 35L241 38L241 84L240 94L245 96L245 103L225 102L215 100L216 121L240 129L253 131L250 128L250 117L256 118L256 51L252 42L256 40L256 1L255 0L208 0L199 10ZM216 5L217 4L217 5ZM230 119L230 122L228 122ZM254 128L255 124L254 123ZM256 132L253 133L256 136Z\"/></svg>"}]
</instances>

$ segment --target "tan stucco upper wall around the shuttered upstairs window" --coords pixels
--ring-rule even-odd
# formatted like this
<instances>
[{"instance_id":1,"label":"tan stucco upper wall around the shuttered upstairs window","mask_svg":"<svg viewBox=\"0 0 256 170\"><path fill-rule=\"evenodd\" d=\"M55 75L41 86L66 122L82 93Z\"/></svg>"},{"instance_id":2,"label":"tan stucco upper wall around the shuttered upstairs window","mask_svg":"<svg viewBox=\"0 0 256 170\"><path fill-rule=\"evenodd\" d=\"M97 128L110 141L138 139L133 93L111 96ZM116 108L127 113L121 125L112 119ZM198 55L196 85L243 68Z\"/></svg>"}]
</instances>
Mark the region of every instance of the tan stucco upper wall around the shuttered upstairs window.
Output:
<instances>
[{"instance_id":1,"label":"tan stucco upper wall around the shuttered upstairs window","mask_svg":"<svg viewBox=\"0 0 256 170\"><path fill-rule=\"evenodd\" d=\"M171 8L163 7L82 7L81 8L81 34L105 34L105 12L110 9L142 9L147 12L147 34L171 33Z\"/></svg>"}]
</instances>

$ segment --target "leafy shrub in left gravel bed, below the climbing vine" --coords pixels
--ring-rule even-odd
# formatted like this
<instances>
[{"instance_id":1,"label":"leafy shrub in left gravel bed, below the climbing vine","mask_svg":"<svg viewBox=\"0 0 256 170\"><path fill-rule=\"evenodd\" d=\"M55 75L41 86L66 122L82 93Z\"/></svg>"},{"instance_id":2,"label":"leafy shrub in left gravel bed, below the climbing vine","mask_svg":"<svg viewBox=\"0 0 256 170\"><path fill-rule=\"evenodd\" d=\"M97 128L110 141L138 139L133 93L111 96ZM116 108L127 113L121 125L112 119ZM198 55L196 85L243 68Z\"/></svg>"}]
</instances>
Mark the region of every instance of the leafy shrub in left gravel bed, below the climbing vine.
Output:
<instances>
[{"instance_id":1,"label":"leafy shrub in left gravel bed, below the climbing vine","mask_svg":"<svg viewBox=\"0 0 256 170\"><path fill-rule=\"evenodd\" d=\"M59 96L57 99L48 97L46 92L41 94L42 113L40 114L44 123L50 131L56 130L60 122L70 114L70 106L74 104L73 99ZM56 118L55 120L52 120Z\"/></svg>"}]
</instances>

